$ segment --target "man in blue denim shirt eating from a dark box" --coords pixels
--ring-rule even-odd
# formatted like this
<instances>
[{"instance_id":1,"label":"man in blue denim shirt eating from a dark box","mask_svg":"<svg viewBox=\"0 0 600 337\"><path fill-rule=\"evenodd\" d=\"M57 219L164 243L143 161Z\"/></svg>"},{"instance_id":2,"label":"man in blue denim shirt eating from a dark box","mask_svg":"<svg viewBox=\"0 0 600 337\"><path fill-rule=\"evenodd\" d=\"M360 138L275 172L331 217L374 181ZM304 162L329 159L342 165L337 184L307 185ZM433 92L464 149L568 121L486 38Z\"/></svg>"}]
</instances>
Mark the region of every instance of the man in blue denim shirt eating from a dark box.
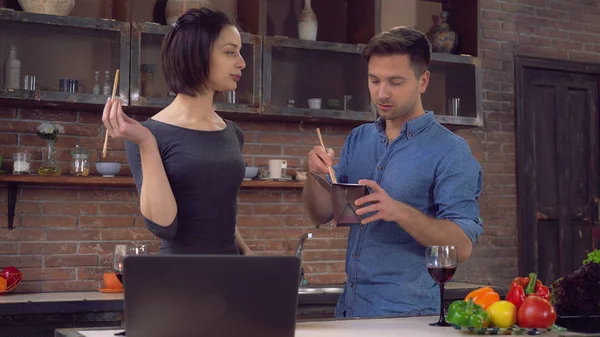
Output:
<instances>
[{"instance_id":1,"label":"man in blue denim shirt eating from a dark box","mask_svg":"<svg viewBox=\"0 0 600 337\"><path fill-rule=\"evenodd\" d=\"M369 92L380 118L355 128L334 166L338 182L372 191L356 201L362 224L351 225L348 281L336 317L439 313L439 287L425 266L425 249L458 247L470 255L482 233L477 199L481 166L468 144L425 112L431 45L425 35L397 27L371 39L363 52ZM332 149L308 154L309 170L327 174ZM332 219L329 194L309 175L304 206L315 223ZM460 268L460 267L459 267Z\"/></svg>"}]
</instances>

